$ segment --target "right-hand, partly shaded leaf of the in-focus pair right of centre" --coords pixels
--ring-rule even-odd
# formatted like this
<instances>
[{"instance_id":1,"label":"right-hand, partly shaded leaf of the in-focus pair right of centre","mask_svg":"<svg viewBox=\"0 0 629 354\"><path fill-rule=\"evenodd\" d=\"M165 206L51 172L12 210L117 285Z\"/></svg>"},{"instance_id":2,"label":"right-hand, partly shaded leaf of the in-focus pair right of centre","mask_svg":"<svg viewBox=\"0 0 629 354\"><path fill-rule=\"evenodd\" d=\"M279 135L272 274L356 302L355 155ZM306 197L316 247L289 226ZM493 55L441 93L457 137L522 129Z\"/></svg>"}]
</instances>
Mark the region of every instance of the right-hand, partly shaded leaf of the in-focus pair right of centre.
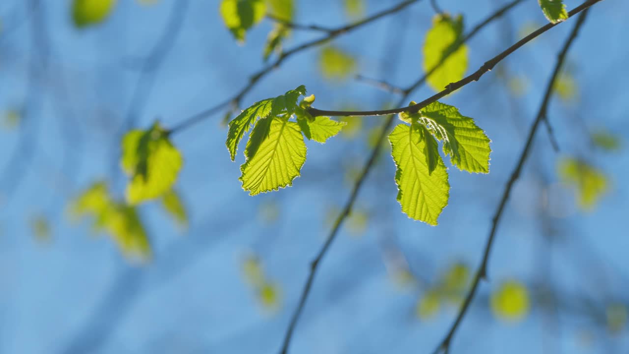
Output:
<instances>
[{"instance_id":1,"label":"right-hand, partly shaded leaf of the in-focus pair right of centre","mask_svg":"<svg viewBox=\"0 0 629 354\"><path fill-rule=\"evenodd\" d=\"M452 164L463 171L489 173L491 140L472 118L461 115L455 106L440 102L426 106L419 115L418 122L442 140L443 153L450 156Z\"/></svg>"}]
</instances>

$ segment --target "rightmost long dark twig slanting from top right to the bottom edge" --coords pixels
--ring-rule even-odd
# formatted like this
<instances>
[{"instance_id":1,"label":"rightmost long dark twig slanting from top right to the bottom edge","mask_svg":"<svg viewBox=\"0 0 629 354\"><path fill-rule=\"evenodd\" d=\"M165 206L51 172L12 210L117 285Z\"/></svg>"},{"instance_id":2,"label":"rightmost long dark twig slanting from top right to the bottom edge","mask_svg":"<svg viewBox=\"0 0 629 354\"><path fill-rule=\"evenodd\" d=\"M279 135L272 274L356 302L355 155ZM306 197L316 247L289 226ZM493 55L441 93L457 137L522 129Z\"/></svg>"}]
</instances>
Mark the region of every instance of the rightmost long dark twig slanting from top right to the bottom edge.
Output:
<instances>
[{"instance_id":1,"label":"rightmost long dark twig slanting from top right to the bottom edge","mask_svg":"<svg viewBox=\"0 0 629 354\"><path fill-rule=\"evenodd\" d=\"M587 1L587 3L585 4L589 4L587 6L589 7L592 4L597 3L597 2L598 1ZM584 9L587 9L587 7ZM571 16L572 15L574 15L574 13L571 11ZM485 245L481 265L476 271L476 275L474 276L474 280L472 281L472 287L470 288L469 292L467 293L467 296L465 297L463 305L461 306L459 314L457 315L457 319L452 324L452 327L450 327L448 334L445 336L445 338L443 338L440 345L437 346L437 349L434 351L434 353L439 353L440 351L447 353L448 348L450 347L450 342L452 341L454 334L459 328L459 325L463 317L465 316L465 313L469 309L470 304L472 303L472 299L474 299L474 295L476 294L476 290L478 288L479 283L481 282L481 279L486 279L487 277L487 261L489 260L489 253L491 251L491 246L493 245L494 236L496 235L496 230L498 229L498 223L503 214L504 207L506 206L507 200L509 200L509 195L511 194L511 188L513 188L515 181L517 181L518 178L520 177L520 173L524 166L524 163L526 162L528 153L531 147L533 146L533 138L535 137L535 132L537 131L538 126L540 125L540 123L543 120L543 117L546 114L548 101L550 101L550 96L552 96L555 79L557 78L557 75L559 74L559 71L561 70L561 67L564 64L565 55L567 54L572 43L574 42L574 39L577 37L577 34L579 33L579 28L581 28L581 26L583 25L586 19L586 15L587 15L587 11L584 11L579 16L576 25L574 25L574 28L572 29L569 37L564 43L564 47L560 50L559 55L557 56L557 64L555 65L555 69L553 71L552 76L550 76L550 79L548 80L546 92L543 97L542 105L540 105L540 110L538 111L537 118L535 119L535 122L533 122L533 125L531 126L528 132L528 138L526 139L526 144L520 154L520 159L518 160L518 164L513 170L513 173L511 173L511 178L509 178L509 181L507 182L507 185L504 188L503 197L501 198L500 203L498 204L498 208L496 209L496 214L493 217L491 231L489 231L489 236L487 237L487 244Z\"/></svg>"}]
</instances>

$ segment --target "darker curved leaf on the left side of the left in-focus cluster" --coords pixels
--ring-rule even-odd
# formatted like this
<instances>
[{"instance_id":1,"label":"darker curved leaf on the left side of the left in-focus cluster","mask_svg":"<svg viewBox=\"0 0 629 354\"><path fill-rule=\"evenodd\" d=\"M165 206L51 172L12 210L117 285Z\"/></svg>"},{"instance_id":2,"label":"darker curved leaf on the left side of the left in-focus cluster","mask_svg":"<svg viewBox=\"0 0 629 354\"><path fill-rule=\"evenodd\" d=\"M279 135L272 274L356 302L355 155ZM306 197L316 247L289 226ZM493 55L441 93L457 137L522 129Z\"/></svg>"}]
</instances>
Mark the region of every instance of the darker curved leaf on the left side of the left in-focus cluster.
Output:
<instances>
[{"instance_id":1,"label":"darker curved leaf on the left side of the left in-focus cluster","mask_svg":"<svg viewBox=\"0 0 629 354\"><path fill-rule=\"evenodd\" d=\"M230 152L231 161L234 161L236 158L240 140L249 131L251 125L257 122L258 118L277 117L282 111L286 111L287 114L291 115L297 106L297 99L303 94L306 94L306 87L301 85L296 89L287 91L282 96L267 98L266 100L253 103L252 106L242 111L238 117L231 120L229 123L230 129L227 133L227 141L225 142ZM259 134L261 133L262 132ZM257 151L257 145L259 145L259 142L253 143L253 153Z\"/></svg>"}]
</instances>

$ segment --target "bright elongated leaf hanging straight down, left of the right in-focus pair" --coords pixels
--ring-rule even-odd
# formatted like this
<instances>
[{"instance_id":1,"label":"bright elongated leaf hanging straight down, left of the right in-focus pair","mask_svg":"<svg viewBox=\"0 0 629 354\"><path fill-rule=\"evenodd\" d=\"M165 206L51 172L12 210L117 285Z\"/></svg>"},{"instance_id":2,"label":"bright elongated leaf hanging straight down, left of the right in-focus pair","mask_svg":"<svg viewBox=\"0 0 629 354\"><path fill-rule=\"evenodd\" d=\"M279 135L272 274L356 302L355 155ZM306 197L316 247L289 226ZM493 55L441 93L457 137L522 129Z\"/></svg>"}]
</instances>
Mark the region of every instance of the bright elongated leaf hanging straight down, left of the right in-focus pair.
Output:
<instances>
[{"instance_id":1,"label":"bright elongated leaf hanging straight down, left of the right in-focus pair","mask_svg":"<svg viewBox=\"0 0 629 354\"><path fill-rule=\"evenodd\" d=\"M399 124L389 134L391 154L398 167L398 202L402 211L415 220L437 225L437 218L448 204L450 185L448 173L437 151L432 145L437 166L430 173L426 163L426 140L423 139L420 125ZM433 138L430 138L433 139Z\"/></svg>"}]
</instances>

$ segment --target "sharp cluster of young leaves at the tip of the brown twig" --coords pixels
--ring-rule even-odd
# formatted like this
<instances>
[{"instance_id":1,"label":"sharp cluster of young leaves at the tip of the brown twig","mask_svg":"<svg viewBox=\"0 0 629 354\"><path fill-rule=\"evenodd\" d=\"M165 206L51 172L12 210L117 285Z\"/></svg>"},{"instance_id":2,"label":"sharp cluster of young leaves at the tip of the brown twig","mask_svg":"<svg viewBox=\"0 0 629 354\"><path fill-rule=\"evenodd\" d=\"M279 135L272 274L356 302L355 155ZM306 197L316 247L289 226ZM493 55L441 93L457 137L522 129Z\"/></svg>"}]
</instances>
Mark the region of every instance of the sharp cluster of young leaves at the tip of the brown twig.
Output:
<instances>
[{"instance_id":1,"label":"sharp cluster of young leaves at the tip of the brown twig","mask_svg":"<svg viewBox=\"0 0 629 354\"><path fill-rule=\"evenodd\" d=\"M247 160L240 166L242 187L250 195L292 185L306 161L304 137L323 143L342 129L342 122L308 113L314 95L298 105L299 96L305 94L306 88L299 86L276 98L258 101L229 123L226 146L232 161L240 140L253 126L245 148ZM292 117L297 122L292 122Z\"/></svg>"}]
</instances>

